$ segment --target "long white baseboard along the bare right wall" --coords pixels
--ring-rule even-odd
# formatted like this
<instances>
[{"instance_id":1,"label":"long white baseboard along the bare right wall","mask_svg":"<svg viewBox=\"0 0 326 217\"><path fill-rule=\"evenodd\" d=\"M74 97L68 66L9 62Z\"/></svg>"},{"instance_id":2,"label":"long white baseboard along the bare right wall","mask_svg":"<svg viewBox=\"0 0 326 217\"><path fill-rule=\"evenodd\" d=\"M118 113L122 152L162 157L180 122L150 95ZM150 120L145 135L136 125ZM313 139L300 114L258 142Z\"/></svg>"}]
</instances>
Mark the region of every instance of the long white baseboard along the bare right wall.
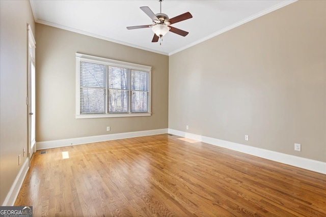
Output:
<instances>
[{"instance_id":1,"label":"long white baseboard along the bare right wall","mask_svg":"<svg viewBox=\"0 0 326 217\"><path fill-rule=\"evenodd\" d=\"M292 156L290 154L280 153L276 151L266 150L262 148L252 147L249 145L243 145L235 142L229 142L221 139L215 139L206 136L200 136L197 134L186 133L182 131L177 131L169 129L168 132L173 135L185 137L188 139L194 139L197 141L205 142L208 144L228 148L235 151L240 151L242 153L251 154L260 158L268 159L271 161L280 162L283 164L288 164L295 167L300 167L303 169L311 170L318 173L326 174L326 162L315 161L307 158L301 158L297 156Z\"/></svg>"}]
</instances>

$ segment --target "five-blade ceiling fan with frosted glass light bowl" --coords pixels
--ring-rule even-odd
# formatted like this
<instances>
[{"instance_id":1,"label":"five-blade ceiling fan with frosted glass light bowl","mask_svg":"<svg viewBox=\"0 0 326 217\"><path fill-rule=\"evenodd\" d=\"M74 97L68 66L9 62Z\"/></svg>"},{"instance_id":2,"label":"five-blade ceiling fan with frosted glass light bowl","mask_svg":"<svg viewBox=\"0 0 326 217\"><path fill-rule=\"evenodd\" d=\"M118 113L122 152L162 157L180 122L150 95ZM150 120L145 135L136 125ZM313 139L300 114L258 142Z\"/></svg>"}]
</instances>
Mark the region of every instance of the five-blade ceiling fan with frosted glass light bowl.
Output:
<instances>
[{"instance_id":1,"label":"five-blade ceiling fan with frosted glass light bowl","mask_svg":"<svg viewBox=\"0 0 326 217\"><path fill-rule=\"evenodd\" d=\"M176 16L176 17L173 17L170 19L168 17L168 15L162 14L162 12L161 12L161 9L162 9L161 4L162 4L163 0L158 0L158 1L159 1L159 13L158 14L154 14L153 11L149 7L140 7L140 9L142 9L142 11L144 11L145 14L147 14L147 16L149 16L152 19L153 24L128 26L127 29L152 27L152 30L154 32L154 37L153 37L152 42L158 42L158 39L161 39L161 41L162 41L162 37L165 34L167 34L169 31L172 33L178 34L180 36L183 36L183 37L188 35L188 32L185 32L184 30L173 27L173 26L171 26L171 24L192 18L193 16L191 15L191 13L186 12L184 14L181 14L179 16ZM161 43L159 43L159 44L161 44Z\"/></svg>"}]
</instances>

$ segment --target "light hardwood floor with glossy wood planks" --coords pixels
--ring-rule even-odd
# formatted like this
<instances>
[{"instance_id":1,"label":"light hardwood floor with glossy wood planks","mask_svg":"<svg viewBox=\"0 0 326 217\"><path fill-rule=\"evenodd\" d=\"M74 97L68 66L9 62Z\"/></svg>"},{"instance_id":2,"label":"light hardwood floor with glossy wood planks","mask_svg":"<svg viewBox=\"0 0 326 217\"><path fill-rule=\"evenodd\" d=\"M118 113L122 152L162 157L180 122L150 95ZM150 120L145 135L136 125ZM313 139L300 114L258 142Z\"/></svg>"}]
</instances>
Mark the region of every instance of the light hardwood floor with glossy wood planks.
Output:
<instances>
[{"instance_id":1,"label":"light hardwood floor with glossy wood planks","mask_svg":"<svg viewBox=\"0 0 326 217\"><path fill-rule=\"evenodd\" d=\"M34 216L326 216L326 175L182 139L37 151L15 205Z\"/></svg>"}]
</instances>

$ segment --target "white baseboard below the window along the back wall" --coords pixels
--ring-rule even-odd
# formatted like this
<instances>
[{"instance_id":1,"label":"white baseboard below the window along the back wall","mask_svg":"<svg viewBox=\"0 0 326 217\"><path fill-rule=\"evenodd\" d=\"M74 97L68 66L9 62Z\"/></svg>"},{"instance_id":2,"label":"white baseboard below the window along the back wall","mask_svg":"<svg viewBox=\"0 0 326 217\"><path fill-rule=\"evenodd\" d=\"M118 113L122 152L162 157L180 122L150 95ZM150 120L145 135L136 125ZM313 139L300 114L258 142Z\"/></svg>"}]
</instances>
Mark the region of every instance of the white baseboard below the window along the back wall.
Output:
<instances>
[{"instance_id":1,"label":"white baseboard below the window along the back wall","mask_svg":"<svg viewBox=\"0 0 326 217\"><path fill-rule=\"evenodd\" d=\"M116 134L107 134L107 135L99 135L99 136L89 136L89 137L80 137L80 138L72 138L72 139L61 139L61 140L52 140L52 141L44 141L44 142L36 142L36 149L47 149L47 148L57 148L64 147L70 145L80 145L87 144L93 142L102 142L108 140L116 140L116 139L126 139L132 137L140 137L140 136L150 136L157 134L168 133L168 129L158 129L158 130L148 130L148 131L137 131L137 132L128 132L128 133L116 133Z\"/></svg>"}]
</instances>

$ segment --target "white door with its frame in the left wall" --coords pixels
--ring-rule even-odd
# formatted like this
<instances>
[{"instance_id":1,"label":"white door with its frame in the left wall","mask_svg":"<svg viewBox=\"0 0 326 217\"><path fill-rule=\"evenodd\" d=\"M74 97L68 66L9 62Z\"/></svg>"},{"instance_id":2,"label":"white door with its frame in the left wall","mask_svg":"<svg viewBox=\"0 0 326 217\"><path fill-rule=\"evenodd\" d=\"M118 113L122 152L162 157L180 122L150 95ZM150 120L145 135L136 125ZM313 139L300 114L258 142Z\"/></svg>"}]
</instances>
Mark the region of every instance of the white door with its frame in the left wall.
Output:
<instances>
[{"instance_id":1,"label":"white door with its frame in the left wall","mask_svg":"<svg viewBox=\"0 0 326 217\"><path fill-rule=\"evenodd\" d=\"M28 25L28 38L29 38L29 67L28 67L28 147L27 156L31 161L33 153L36 151L35 141L35 39L32 33L31 26Z\"/></svg>"}]
</instances>

